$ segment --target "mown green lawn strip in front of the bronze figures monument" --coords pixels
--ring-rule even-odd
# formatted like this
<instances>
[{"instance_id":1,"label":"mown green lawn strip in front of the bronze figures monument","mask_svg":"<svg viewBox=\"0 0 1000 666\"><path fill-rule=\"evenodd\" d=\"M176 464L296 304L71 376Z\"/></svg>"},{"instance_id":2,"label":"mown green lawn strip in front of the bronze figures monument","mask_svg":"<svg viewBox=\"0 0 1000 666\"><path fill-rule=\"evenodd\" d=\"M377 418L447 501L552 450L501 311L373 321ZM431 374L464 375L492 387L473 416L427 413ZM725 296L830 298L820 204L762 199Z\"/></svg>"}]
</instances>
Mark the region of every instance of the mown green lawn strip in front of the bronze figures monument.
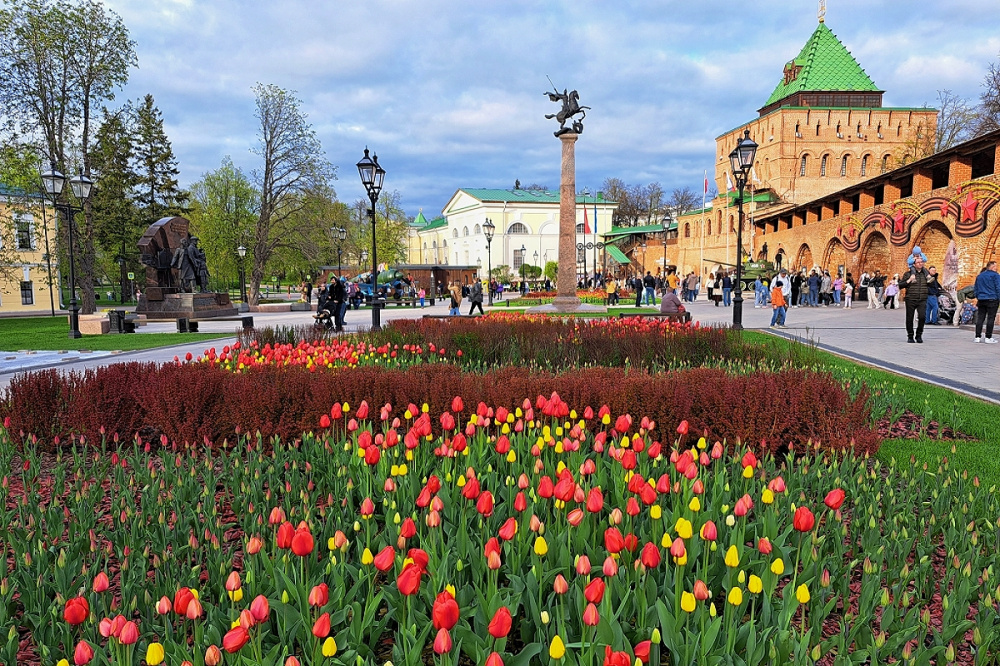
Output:
<instances>
[{"instance_id":1,"label":"mown green lawn strip in front of the bronze figures monument","mask_svg":"<svg viewBox=\"0 0 1000 666\"><path fill-rule=\"evenodd\" d=\"M234 324L235 327L235 324ZM234 329L235 330L235 329ZM133 333L128 335L85 335L71 340L66 316L0 319L0 351L133 351L167 345L228 337L220 333Z\"/></svg>"}]
</instances>

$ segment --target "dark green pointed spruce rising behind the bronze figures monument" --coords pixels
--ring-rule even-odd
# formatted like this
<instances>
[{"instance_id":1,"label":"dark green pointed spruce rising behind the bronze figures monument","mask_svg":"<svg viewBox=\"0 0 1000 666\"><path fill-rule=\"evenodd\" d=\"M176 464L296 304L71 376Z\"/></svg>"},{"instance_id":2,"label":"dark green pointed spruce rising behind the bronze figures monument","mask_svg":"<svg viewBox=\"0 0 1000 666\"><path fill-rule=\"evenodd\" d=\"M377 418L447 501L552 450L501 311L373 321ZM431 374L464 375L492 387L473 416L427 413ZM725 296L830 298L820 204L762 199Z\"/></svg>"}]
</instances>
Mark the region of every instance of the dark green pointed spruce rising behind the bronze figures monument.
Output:
<instances>
[{"instance_id":1,"label":"dark green pointed spruce rising behind the bronze figures monument","mask_svg":"<svg viewBox=\"0 0 1000 666\"><path fill-rule=\"evenodd\" d=\"M187 211L190 194L178 185L177 158L152 95L135 110L135 170L136 207L147 225Z\"/></svg>"}]
</instances>

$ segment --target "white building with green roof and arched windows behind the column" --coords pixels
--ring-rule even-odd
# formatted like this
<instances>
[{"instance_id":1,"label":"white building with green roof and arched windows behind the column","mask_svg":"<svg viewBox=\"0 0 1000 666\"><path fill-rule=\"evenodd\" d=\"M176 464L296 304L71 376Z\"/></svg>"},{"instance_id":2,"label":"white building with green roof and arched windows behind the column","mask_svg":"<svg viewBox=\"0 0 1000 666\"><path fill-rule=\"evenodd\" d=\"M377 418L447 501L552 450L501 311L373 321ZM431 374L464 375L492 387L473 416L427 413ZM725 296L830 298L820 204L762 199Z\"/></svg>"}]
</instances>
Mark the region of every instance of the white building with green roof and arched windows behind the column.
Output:
<instances>
[{"instance_id":1,"label":"white building with green roof and arched windows behind the column","mask_svg":"<svg viewBox=\"0 0 1000 666\"><path fill-rule=\"evenodd\" d=\"M603 265L604 253L595 245L611 230L618 204L600 192L581 194L577 204L578 271ZM494 225L487 255L484 225ZM421 212L410 226L411 264L508 266L514 275L524 263L545 266L557 261L559 247L559 193L547 190L462 188L452 195L441 216L427 221Z\"/></svg>"}]
</instances>

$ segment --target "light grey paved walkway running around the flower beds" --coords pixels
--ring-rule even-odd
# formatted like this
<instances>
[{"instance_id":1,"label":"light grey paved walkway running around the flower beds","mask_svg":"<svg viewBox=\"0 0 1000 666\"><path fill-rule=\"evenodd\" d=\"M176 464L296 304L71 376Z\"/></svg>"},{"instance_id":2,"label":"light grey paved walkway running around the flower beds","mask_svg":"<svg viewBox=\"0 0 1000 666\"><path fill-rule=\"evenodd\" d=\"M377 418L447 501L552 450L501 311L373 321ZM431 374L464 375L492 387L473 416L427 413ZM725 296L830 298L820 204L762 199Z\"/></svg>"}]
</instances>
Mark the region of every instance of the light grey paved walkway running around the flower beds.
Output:
<instances>
[{"instance_id":1,"label":"light grey paved walkway running around the flower beds","mask_svg":"<svg viewBox=\"0 0 1000 666\"><path fill-rule=\"evenodd\" d=\"M811 342L821 349L869 365L1000 403L1000 344L975 344L971 330L952 326L928 326L924 331L924 344L908 344L903 310L868 310L865 303L861 303L860 307L855 305L851 310L836 307L792 308L786 321L788 328L775 330L768 328L771 310L754 308L751 298L743 303L743 325L748 329ZM466 308L468 304L463 307L463 312L467 311ZM694 319L703 325L732 322L731 308L714 307L704 299L690 304L689 309ZM447 306L440 302L423 309L393 306L382 311L382 321L446 313ZM307 325L312 321L309 312L254 314L254 322L261 326ZM349 331L368 328L371 311L348 310L345 323ZM151 323L139 330L141 332L136 335L169 332L176 330L176 326L173 322ZM233 322L201 323L200 332L216 331L232 332ZM1000 330L997 336L1000 338ZM183 357L188 352L197 356L213 346L221 349L234 340L235 337L223 338L213 342L120 353L39 352L29 356L0 352L0 390L10 383L16 373L27 369L60 367L82 370L122 361L164 362L173 360L175 355Z\"/></svg>"}]
</instances>

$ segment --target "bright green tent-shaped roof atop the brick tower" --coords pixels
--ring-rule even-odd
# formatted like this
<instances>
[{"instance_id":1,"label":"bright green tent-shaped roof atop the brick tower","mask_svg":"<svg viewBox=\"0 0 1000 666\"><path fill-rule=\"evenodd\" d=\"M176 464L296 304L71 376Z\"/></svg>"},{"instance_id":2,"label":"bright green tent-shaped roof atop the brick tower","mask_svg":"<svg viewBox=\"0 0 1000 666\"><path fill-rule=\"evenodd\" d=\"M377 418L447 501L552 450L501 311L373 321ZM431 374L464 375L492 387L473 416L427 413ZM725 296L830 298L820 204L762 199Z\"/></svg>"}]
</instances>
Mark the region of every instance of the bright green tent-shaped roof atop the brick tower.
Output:
<instances>
[{"instance_id":1,"label":"bright green tent-shaped roof atop the brick tower","mask_svg":"<svg viewBox=\"0 0 1000 666\"><path fill-rule=\"evenodd\" d=\"M802 51L785 65L785 76L764 107L797 92L881 92L837 36L820 23Z\"/></svg>"}]
</instances>

